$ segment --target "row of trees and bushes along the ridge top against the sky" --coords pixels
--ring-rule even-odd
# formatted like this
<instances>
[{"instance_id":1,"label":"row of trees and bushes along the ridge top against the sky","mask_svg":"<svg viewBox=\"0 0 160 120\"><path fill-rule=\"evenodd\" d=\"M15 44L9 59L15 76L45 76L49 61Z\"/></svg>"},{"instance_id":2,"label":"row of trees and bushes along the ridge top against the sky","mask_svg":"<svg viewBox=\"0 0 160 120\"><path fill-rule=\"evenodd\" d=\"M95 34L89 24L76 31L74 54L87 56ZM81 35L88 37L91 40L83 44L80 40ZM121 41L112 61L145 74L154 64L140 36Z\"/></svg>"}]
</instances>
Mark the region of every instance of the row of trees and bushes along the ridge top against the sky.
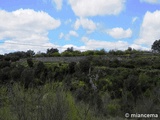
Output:
<instances>
[{"instance_id":1,"label":"row of trees and bushes along the ridge top against the sky","mask_svg":"<svg viewBox=\"0 0 160 120\"><path fill-rule=\"evenodd\" d=\"M101 50L87 50L87 51L79 51L74 50L73 47L67 48L63 52L59 52L57 48L48 48L46 52L37 52L35 53L33 50L28 51L17 51L6 53L4 55L0 55L0 60L5 61L12 61L16 62L23 58L35 58L35 57L75 57L75 56L100 56L100 55L131 55L131 54L143 54L143 53L150 53L149 51L142 51L142 50L135 50L129 47L127 50L110 50L105 51L104 49Z\"/></svg>"}]
</instances>

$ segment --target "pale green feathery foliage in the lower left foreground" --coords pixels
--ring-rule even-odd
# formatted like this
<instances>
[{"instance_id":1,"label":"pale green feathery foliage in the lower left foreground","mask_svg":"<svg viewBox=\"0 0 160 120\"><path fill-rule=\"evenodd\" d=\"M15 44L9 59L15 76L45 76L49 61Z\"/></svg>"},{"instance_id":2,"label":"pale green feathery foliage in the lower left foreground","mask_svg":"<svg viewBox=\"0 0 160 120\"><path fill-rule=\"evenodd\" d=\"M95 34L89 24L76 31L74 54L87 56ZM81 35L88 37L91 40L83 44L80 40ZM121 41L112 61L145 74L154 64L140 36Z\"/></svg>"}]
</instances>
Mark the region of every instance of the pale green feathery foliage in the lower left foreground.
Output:
<instances>
[{"instance_id":1,"label":"pale green feathery foliage in the lower left foreground","mask_svg":"<svg viewBox=\"0 0 160 120\"><path fill-rule=\"evenodd\" d=\"M8 96L5 87L0 88L0 118L3 120L93 120L91 106L75 102L70 92L55 83L42 88L25 90L20 84L10 86ZM8 102L7 102L8 101Z\"/></svg>"}]
</instances>

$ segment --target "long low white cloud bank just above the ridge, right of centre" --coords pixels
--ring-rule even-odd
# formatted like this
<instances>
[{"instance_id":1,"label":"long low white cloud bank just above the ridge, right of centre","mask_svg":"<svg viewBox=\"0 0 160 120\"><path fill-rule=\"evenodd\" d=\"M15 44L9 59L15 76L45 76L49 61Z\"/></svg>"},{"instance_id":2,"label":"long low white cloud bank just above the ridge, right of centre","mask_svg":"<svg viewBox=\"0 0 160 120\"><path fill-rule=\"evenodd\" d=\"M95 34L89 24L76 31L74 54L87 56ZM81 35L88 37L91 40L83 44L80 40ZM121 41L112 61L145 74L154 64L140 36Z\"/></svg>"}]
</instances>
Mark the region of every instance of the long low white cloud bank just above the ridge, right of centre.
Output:
<instances>
[{"instance_id":1,"label":"long low white cloud bank just above the ridge, right of centre","mask_svg":"<svg viewBox=\"0 0 160 120\"><path fill-rule=\"evenodd\" d=\"M108 41L89 39L87 37L82 37L82 41L84 42L86 48L88 49L104 48L107 50L111 49L125 50L128 48L128 43L124 41L108 42Z\"/></svg>"}]
</instances>

